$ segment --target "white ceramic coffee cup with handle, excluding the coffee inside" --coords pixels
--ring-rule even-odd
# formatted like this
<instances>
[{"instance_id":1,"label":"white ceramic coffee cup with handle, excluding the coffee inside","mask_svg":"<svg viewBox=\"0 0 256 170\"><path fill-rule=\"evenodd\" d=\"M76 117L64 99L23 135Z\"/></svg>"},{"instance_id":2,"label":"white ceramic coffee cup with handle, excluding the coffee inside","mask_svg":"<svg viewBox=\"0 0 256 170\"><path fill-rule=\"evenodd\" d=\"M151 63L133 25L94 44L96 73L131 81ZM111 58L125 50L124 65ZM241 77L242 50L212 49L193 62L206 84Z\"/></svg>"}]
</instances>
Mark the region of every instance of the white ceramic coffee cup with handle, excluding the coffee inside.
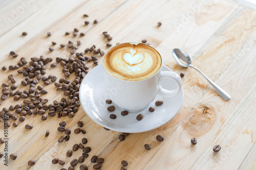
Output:
<instances>
[{"instance_id":1,"label":"white ceramic coffee cup with handle, excluding the coffee inside","mask_svg":"<svg viewBox=\"0 0 256 170\"><path fill-rule=\"evenodd\" d=\"M104 67L105 87L108 91L115 90L111 95L111 100L114 106L122 111L140 111L147 107L157 94L164 98L172 98L180 92L182 87L180 76L175 72L162 71L162 64L153 76L139 81L122 80L114 77L106 70L104 60L102 66ZM163 79L173 80L177 84L176 89L164 89L160 85Z\"/></svg>"}]
</instances>

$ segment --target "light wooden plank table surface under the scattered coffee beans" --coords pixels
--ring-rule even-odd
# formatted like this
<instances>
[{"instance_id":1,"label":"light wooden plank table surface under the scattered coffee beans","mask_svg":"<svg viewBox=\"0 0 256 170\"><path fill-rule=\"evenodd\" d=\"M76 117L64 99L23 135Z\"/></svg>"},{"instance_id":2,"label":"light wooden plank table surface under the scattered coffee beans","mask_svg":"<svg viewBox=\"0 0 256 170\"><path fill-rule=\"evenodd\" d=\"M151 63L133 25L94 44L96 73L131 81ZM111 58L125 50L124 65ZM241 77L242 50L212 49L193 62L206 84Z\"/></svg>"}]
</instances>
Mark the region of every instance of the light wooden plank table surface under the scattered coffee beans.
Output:
<instances>
[{"instance_id":1,"label":"light wooden plank table surface under the scattered coffee beans","mask_svg":"<svg viewBox=\"0 0 256 170\"><path fill-rule=\"evenodd\" d=\"M21 1L22 2L22 1ZM92 151L85 159L89 169L95 163L93 155L105 159L102 169L120 169L121 161L129 162L127 169L255 169L256 168L256 11L249 7L229 1L124 1L124 0L77 0L77 1L2 1L0 3L0 47L1 67L15 65L21 57L70 57L70 49L60 48L59 44L72 40L82 44L77 52L83 52L95 44L107 51L107 41L103 31L117 42L147 40L163 57L164 64L180 74L183 80L184 102L178 114L164 126L144 133L130 134L124 141L118 139L120 132L106 131L93 122L82 110L69 117L48 117L42 121L40 115L27 115L25 122L18 127L9 122L8 153L15 153L16 160L8 159L8 167L0 158L0 169L60 169L68 168L70 161L78 158L82 150L67 157L66 152L74 143L80 143L83 137L88 139L86 146ZM88 14L89 17L83 17ZM97 19L98 23L93 21ZM84 21L90 21L88 26ZM158 27L157 22L162 26ZM73 29L85 36L73 36ZM22 32L27 36L22 36ZM67 31L71 35L65 36ZM52 36L48 37L47 32ZM52 41L57 44L52 45ZM49 52L49 47L55 48ZM172 57L173 48L186 51L193 59L193 65L201 69L212 81L225 89L231 100L224 101L206 80L192 68L182 68ZM10 51L16 51L12 58ZM102 57L99 57L101 63ZM92 62L87 64L90 69ZM12 83L7 76L13 74L18 88L25 90L20 82L25 78L17 70L0 70L1 83ZM51 68L47 65L47 76L54 75L58 80L65 77L61 66ZM74 80L72 74L68 79ZM58 81L57 80L57 81ZM42 84L40 81L39 84ZM9 87L10 87L9 85ZM3 87L1 87L3 88ZM49 92L45 98L49 104L60 100L63 92L56 91L51 83L44 87ZM21 104L8 96L1 101L1 110L11 104ZM16 114L16 113L14 113ZM16 114L19 118L19 115ZM86 134L74 134L78 120L84 123ZM57 142L62 133L57 131L58 123L66 121L66 128L72 133L70 140ZM25 125L32 124L33 129L26 130ZM0 137L3 137L4 124ZM50 135L45 137L46 130ZM163 142L156 140L157 135L164 136ZM191 145L190 139L196 137L197 145ZM144 144L151 144L147 151ZM220 144L218 153L212 151ZM0 152L4 152L0 144ZM53 158L66 161L66 164L52 164ZM29 160L35 160L29 166ZM81 163L76 165L79 169Z\"/></svg>"}]
</instances>

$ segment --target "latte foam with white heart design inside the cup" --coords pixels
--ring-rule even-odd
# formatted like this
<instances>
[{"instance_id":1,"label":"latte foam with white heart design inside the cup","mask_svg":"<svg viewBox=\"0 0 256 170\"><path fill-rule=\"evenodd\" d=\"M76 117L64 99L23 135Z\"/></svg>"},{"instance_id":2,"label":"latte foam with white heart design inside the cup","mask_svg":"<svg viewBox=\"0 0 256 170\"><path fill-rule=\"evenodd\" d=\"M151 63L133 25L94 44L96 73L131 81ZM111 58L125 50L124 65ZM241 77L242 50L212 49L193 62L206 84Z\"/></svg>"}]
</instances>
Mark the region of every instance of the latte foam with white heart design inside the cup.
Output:
<instances>
[{"instance_id":1,"label":"latte foam with white heart design inside the cup","mask_svg":"<svg viewBox=\"0 0 256 170\"><path fill-rule=\"evenodd\" d=\"M161 67L160 54L142 43L122 43L104 56L105 69L114 77L138 81L153 76Z\"/></svg>"}]
</instances>

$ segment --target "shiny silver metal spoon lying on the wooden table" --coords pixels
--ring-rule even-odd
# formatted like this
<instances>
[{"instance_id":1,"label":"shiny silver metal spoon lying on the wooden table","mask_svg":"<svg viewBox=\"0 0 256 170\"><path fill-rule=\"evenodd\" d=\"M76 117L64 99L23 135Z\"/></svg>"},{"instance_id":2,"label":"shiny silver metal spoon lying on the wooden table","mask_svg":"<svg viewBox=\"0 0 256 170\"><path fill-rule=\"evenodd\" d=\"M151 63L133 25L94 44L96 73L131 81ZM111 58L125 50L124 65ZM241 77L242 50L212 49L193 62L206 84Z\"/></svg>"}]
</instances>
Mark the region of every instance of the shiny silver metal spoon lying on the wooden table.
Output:
<instances>
[{"instance_id":1,"label":"shiny silver metal spoon lying on the wooden table","mask_svg":"<svg viewBox=\"0 0 256 170\"><path fill-rule=\"evenodd\" d=\"M214 89L220 94L220 96L222 96L222 98L224 100L227 101L231 98L231 96L226 91L224 91L217 84L215 84L213 81L211 81L207 76L205 76L203 74L202 71L200 71L197 67L191 66L191 58L184 51L180 50L179 48L175 48L173 50L173 57L174 57L174 60L180 66L182 66L182 67L192 67L192 68L195 68L196 70L198 70L201 73L201 75L210 83L210 85L212 87L214 87ZM182 63L181 60L184 61L185 63Z\"/></svg>"}]
</instances>

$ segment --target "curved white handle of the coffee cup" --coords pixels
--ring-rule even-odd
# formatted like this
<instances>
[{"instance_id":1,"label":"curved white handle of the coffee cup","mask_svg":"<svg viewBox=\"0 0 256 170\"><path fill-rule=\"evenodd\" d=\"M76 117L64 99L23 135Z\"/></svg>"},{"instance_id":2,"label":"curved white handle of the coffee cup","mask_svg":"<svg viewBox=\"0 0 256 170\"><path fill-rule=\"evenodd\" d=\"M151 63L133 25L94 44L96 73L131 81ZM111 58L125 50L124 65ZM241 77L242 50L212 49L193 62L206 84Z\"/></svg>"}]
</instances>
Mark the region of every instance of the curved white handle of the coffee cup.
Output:
<instances>
[{"instance_id":1,"label":"curved white handle of the coffee cup","mask_svg":"<svg viewBox=\"0 0 256 170\"><path fill-rule=\"evenodd\" d=\"M179 75L171 71L162 71L159 78L159 82L161 82L163 79L172 79L173 81L176 82L178 87L174 90L166 90L161 85L159 85L160 88L158 90L158 93L161 96L163 96L164 98L171 98L180 92L180 89L182 87L182 80Z\"/></svg>"}]
</instances>

